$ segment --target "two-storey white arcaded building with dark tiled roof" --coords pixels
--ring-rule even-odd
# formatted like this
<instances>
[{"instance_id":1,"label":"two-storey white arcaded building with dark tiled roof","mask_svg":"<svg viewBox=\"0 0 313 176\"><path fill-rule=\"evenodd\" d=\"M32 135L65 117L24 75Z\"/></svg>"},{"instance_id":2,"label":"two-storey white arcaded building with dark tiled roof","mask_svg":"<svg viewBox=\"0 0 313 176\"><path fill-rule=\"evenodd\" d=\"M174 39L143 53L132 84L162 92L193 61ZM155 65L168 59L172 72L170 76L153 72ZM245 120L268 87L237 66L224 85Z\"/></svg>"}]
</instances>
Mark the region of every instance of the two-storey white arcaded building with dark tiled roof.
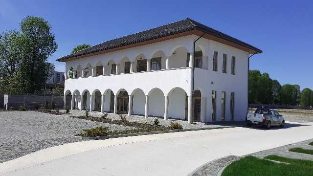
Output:
<instances>
[{"instance_id":1,"label":"two-storey white arcaded building with dark tiled roof","mask_svg":"<svg viewBox=\"0 0 313 176\"><path fill-rule=\"evenodd\" d=\"M74 70L65 82L71 109L192 123L245 120L255 53L262 50L187 18L57 61L66 62L66 78Z\"/></svg>"}]
</instances>

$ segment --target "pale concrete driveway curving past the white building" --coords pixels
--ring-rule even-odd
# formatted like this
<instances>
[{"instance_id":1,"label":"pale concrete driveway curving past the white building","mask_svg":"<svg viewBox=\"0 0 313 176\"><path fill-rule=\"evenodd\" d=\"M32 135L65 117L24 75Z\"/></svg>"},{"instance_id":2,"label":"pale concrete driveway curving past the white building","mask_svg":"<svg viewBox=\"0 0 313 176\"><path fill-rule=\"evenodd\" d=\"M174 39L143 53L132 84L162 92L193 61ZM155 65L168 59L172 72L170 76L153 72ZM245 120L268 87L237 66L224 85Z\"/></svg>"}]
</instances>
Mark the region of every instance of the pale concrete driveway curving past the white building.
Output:
<instances>
[{"instance_id":1,"label":"pale concrete driveway curving past the white building","mask_svg":"<svg viewBox=\"0 0 313 176\"><path fill-rule=\"evenodd\" d=\"M0 176L184 176L226 155L313 138L313 123L230 128L70 143L0 164Z\"/></svg>"}]
</instances>

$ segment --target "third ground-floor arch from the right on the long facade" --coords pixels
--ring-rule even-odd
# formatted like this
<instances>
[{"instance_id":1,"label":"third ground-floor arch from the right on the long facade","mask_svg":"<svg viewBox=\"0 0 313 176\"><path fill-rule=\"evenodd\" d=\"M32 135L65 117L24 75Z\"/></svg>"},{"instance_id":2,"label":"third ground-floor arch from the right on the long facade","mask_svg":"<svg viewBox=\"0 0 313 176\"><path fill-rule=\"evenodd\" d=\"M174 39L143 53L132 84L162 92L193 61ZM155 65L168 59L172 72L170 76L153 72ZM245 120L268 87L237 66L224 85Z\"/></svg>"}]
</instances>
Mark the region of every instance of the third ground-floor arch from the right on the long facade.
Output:
<instances>
[{"instance_id":1,"label":"third ground-floor arch from the right on the long facade","mask_svg":"<svg viewBox=\"0 0 313 176\"><path fill-rule=\"evenodd\" d=\"M144 115L145 114L145 103L146 96L142 89L135 88L132 92L132 113L136 115Z\"/></svg>"}]
</instances>

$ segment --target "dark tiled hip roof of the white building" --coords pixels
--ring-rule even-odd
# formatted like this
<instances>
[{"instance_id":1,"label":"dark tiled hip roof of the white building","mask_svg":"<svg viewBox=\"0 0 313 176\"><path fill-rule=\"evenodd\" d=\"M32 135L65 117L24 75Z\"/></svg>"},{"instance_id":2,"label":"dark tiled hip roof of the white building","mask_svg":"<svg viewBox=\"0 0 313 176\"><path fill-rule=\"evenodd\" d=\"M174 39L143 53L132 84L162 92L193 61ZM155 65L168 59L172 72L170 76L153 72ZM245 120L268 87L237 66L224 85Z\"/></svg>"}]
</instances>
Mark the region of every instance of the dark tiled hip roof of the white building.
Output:
<instances>
[{"instance_id":1,"label":"dark tiled hip roof of the white building","mask_svg":"<svg viewBox=\"0 0 313 176\"><path fill-rule=\"evenodd\" d=\"M165 24L165 25L153 28L153 29L149 29L149 30L145 30L142 32L128 35L128 36L124 36L121 38L113 39L111 41L107 41L107 42L104 42L101 44L96 44L96 45L91 46L89 48L86 48L86 49L77 51L75 53L69 54L67 56L64 56L62 58L59 58L59 59L57 59L57 61L63 61L63 60L66 60L66 59L72 58L72 57L82 56L82 55L86 55L86 54L90 54L90 53L94 53L94 52L98 52L98 51L104 51L104 50L117 48L117 47L129 45L129 44L136 44L136 43L149 41L149 40L153 40L153 39L157 39L157 38L161 38L161 37L165 37L165 36L179 34L179 33L194 30L194 29L201 30L205 33L217 36L219 38L222 38L224 40L227 40L227 41L230 41L230 42L233 42L236 44L240 44L240 45L245 46L249 49L252 49L254 51L262 53L262 50L254 47L250 44L246 44L245 42L242 42L238 39L230 37L230 36L220 32L220 31L217 31L211 27L205 26L205 25L201 24L200 22L196 22L194 20L187 18L187 19L181 20L179 22L173 22L170 24Z\"/></svg>"}]
</instances>

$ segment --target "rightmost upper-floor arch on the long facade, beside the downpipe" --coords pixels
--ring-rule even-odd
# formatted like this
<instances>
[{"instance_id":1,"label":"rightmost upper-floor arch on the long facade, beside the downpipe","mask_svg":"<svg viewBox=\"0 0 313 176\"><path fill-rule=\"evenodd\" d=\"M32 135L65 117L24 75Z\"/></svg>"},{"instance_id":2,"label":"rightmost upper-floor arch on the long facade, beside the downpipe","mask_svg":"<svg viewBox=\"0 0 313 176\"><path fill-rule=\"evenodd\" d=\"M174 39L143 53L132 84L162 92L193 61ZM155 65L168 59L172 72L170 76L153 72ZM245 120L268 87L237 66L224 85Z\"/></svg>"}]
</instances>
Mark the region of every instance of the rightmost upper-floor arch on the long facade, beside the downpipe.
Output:
<instances>
[{"instance_id":1,"label":"rightmost upper-floor arch on the long facade, beside the downpipe","mask_svg":"<svg viewBox=\"0 0 313 176\"><path fill-rule=\"evenodd\" d=\"M188 49L184 46L176 46L169 55L169 64L171 68L180 68L189 66Z\"/></svg>"}]
</instances>

